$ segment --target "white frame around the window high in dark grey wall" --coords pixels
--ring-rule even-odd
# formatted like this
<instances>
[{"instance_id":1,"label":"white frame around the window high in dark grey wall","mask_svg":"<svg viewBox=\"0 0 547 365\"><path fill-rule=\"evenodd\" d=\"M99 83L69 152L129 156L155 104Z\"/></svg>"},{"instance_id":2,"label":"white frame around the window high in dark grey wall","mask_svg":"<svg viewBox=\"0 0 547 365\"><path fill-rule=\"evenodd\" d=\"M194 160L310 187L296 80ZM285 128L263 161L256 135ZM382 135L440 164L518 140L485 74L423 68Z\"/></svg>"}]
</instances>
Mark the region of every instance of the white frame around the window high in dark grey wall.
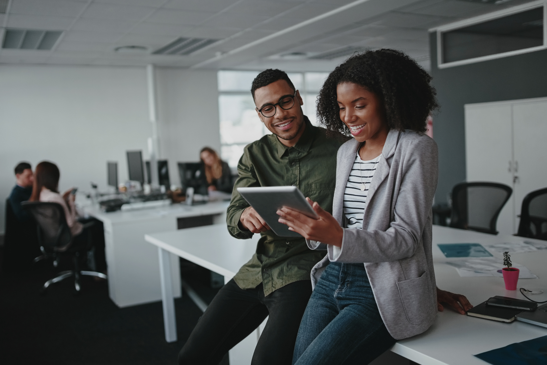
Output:
<instances>
[{"instance_id":1,"label":"white frame around the window high in dark grey wall","mask_svg":"<svg viewBox=\"0 0 547 365\"><path fill-rule=\"evenodd\" d=\"M539 46L531 47L531 48L517 49L514 51L508 51L503 53L496 53L493 55L474 57L472 59L443 62L443 47L444 47L443 33L457 30L459 28L468 27L475 24L480 24L488 20L503 18L504 16L522 13L522 11L532 10L532 9L541 8L541 7L543 7L543 45L539 45ZM469 18L469 19L457 21L451 24L443 25L440 27L432 28L429 30L429 32L431 33L436 32L437 67L440 69L461 66L461 65L469 65L470 63L490 61L490 60L500 59L503 57L515 56L515 55L544 50L544 49L547 49L547 1L545 0L533 1L527 4L517 5L516 7L494 11L493 13L483 14L483 15L475 16L474 18Z\"/></svg>"}]
</instances>

